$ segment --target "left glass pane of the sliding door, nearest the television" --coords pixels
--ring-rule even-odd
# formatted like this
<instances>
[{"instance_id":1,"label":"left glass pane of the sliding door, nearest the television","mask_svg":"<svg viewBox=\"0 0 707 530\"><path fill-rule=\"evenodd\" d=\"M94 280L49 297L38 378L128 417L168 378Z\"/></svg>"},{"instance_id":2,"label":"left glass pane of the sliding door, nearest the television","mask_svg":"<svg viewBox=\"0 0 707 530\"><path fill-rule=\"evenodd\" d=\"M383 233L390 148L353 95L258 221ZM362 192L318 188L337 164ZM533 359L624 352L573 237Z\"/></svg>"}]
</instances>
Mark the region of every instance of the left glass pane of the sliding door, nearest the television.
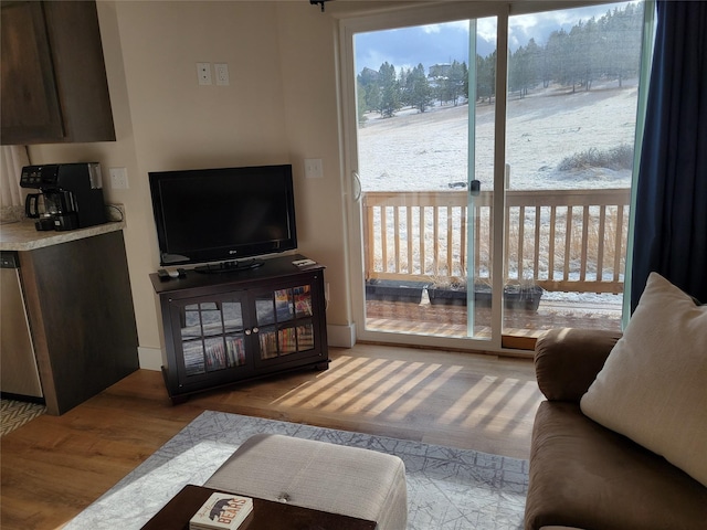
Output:
<instances>
[{"instance_id":1,"label":"left glass pane of the sliding door, nearest the television","mask_svg":"<svg viewBox=\"0 0 707 530\"><path fill-rule=\"evenodd\" d=\"M482 221L469 203L493 193L494 103L468 105L476 99L476 67L468 64L476 28L495 23L464 19L354 35L366 329L490 337L489 299L482 311L467 286L477 276L468 256ZM377 64L379 46L412 42L411 62ZM487 46L495 53L494 42ZM441 56L449 59L433 59ZM475 148L477 114L482 149ZM477 177L488 190L484 199Z\"/></svg>"}]
</instances>

